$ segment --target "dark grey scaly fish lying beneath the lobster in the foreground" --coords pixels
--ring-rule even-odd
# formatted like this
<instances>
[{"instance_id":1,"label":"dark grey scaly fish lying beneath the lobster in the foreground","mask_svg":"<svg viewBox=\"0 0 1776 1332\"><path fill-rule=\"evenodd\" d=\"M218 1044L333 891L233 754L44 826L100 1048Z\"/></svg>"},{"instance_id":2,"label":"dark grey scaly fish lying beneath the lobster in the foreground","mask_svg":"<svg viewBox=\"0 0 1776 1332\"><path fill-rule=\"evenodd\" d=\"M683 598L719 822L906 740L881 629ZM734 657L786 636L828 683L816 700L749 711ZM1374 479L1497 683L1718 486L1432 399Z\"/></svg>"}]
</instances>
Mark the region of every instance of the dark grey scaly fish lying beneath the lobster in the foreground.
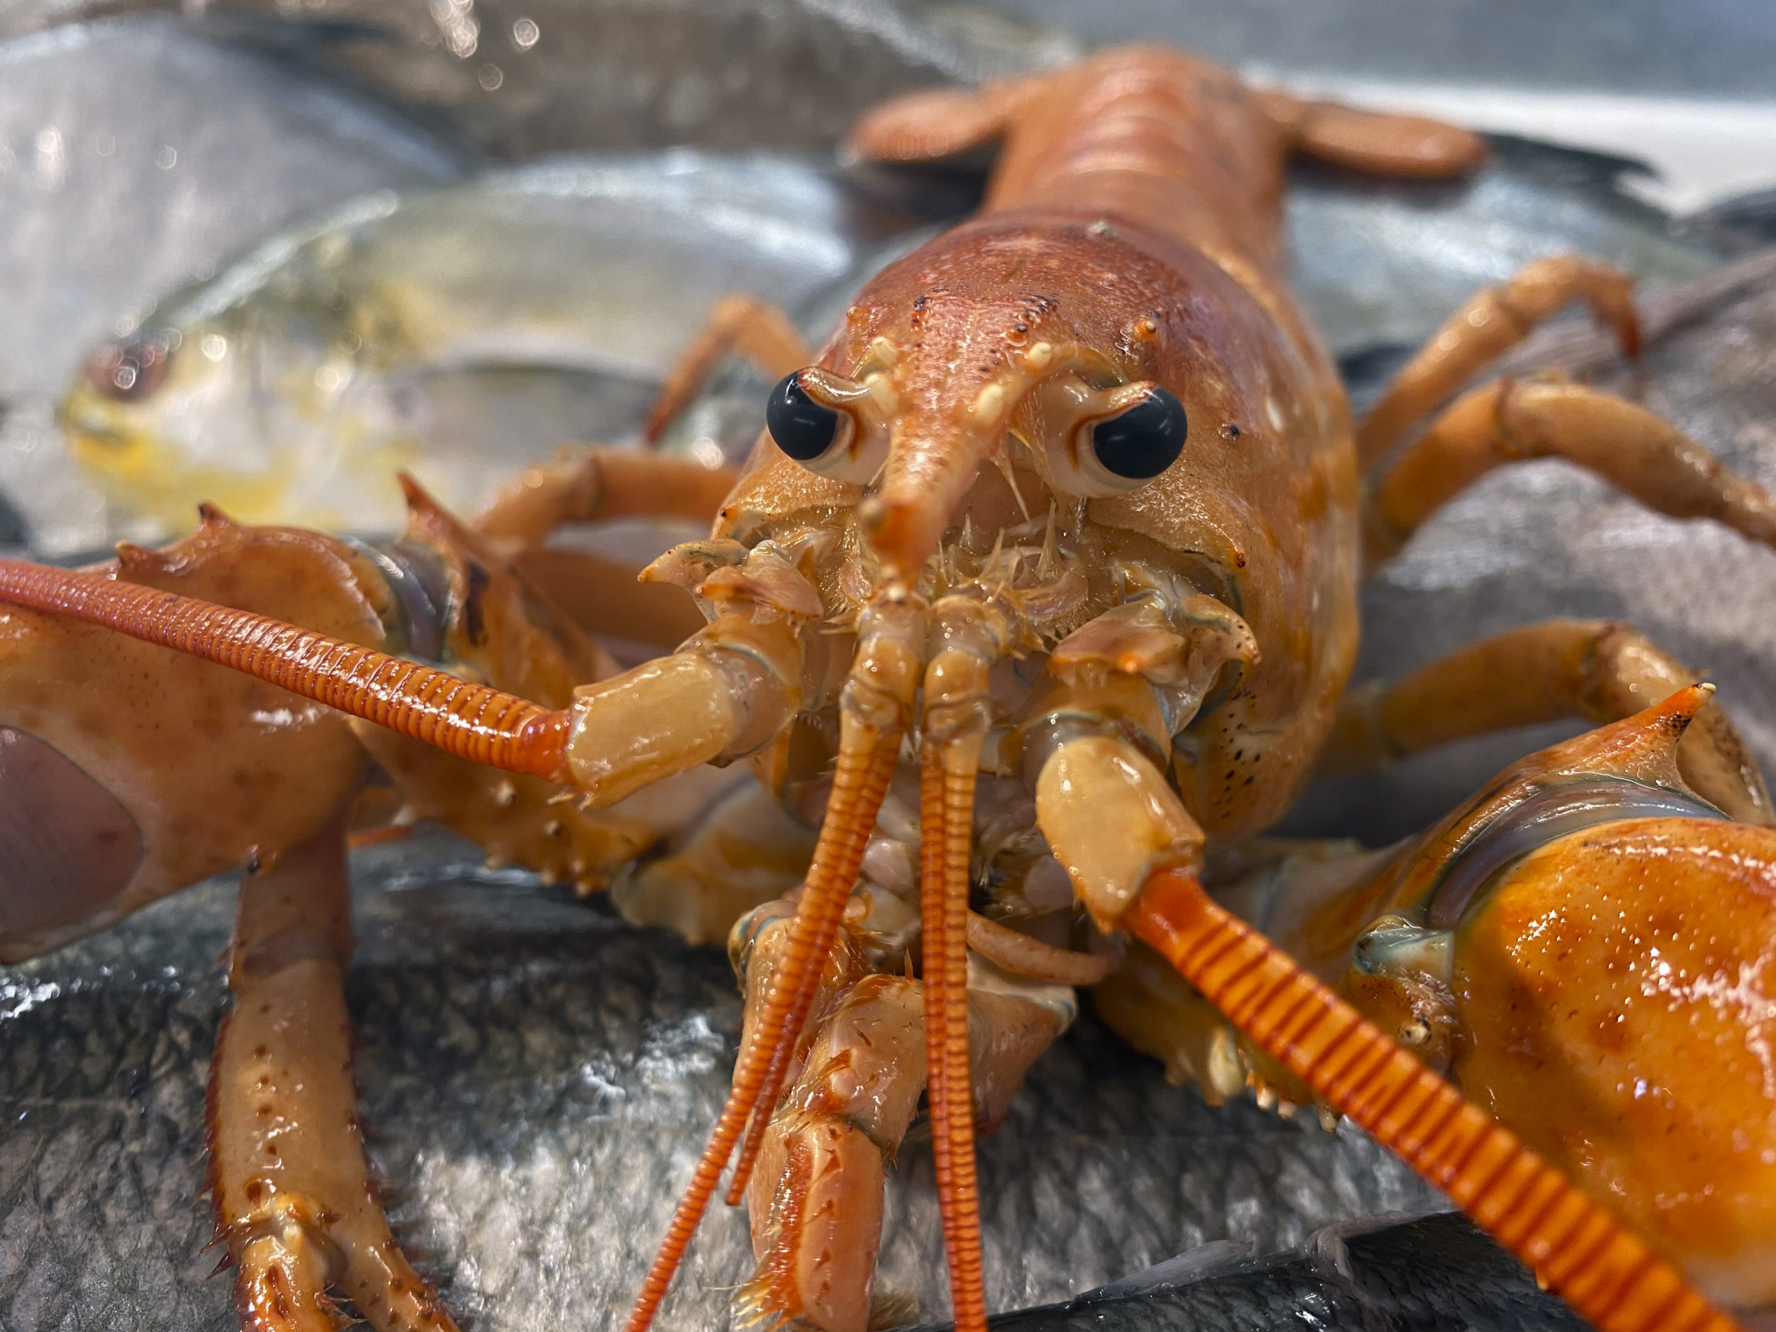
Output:
<instances>
[{"instance_id":1,"label":"dark grey scaly fish lying beneath the lobster in the foreground","mask_svg":"<svg viewBox=\"0 0 1776 1332\"><path fill-rule=\"evenodd\" d=\"M442 835L355 852L346 996L371 1154L408 1252L481 1332L627 1307L726 1094L741 1002L721 950L622 924ZM0 971L0 1325L233 1332L210 1280L202 1099L233 884ZM1209 1110L1090 1018L982 1144L995 1309L1066 1300L1211 1240L1270 1252L1442 1201L1362 1135ZM725 1328L751 1265L716 1208L661 1327ZM947 1316L925 1142L890 1183L877 1291Z\"/></svg>"}]
</instances>

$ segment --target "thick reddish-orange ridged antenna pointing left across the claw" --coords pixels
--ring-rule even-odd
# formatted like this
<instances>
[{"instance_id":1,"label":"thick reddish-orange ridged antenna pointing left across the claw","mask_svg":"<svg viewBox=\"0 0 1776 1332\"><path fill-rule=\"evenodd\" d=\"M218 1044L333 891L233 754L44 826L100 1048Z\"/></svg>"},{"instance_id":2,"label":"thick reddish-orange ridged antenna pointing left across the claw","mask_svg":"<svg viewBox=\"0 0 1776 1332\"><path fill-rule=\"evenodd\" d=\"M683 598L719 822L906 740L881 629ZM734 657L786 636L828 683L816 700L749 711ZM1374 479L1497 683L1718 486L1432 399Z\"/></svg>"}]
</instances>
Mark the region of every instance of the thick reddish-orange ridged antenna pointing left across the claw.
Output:
<instances>
[{"instance_id":1,"label":"thick reddish-orange ridged antenna pointing left across the claw","mask_svg":"<svg viewBox=\"0 0 1776 1332\"><path fill-rule=\"evenodd\" d=\"M478 764L567 774L567 712L282 620L21 559L0 559L0 602L231 666Z\"/></svg>"}]
</instances>

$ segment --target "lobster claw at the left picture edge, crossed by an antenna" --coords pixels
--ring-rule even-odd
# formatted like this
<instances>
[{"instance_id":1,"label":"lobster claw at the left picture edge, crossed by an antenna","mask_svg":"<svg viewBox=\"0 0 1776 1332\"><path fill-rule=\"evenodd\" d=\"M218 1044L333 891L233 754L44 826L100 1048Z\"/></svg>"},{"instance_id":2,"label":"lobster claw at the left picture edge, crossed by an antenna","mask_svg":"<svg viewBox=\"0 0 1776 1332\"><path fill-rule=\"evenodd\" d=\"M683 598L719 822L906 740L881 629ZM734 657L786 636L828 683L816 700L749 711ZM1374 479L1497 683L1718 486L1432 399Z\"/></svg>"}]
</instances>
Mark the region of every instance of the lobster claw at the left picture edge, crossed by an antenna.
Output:
<instances>
[{"instance_id":1,"label":"lobster claw at the left picture edge, crossed by an antenna","mask_svg":"<svg viewBox=\"0 0 1776 1332\"><path fill-rule=\"evenodd\" d=\"M380 581L343 542L206 510L165 551L87 577L181 591L382 643ZM167 762L169 746L178 762ZM190 883L270 860L346 797L362 755L336 712L59 616L0 618L0 961L103 929Z\"/></svg>"}]
</instances>

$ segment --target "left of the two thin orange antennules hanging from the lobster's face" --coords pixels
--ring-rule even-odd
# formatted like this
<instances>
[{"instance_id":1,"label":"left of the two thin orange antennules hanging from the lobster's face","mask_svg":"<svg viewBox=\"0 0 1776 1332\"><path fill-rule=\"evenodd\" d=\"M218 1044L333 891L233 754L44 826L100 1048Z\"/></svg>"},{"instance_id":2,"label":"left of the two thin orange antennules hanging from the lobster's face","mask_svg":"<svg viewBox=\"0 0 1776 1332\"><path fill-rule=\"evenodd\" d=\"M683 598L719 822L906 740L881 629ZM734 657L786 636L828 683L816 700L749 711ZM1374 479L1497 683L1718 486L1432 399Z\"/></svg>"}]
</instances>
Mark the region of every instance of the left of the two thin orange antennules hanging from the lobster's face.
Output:
<instances>
[{"instance_id":1,"label":"left of the two thin orange antennules hanging from the lobster's face","mask_svg":"<svg viewBox=\"0 0 1776 1332\"><path fill-rule=\"evenodd\" d=\"M757 1025L746 1034L728 1101L641 1282L627 1332L646 1332L652 1325L716 1183L741 1142L741 1133L751 1124L730 1201L737 1201L746 1188L764 1126L789 1071L789 1055L808 1018L826 954L838 936L851 886L899 762L906 712L918 684L922 641L924 614L911 602L872 606L858 625L858 655L840 698L833 794L828 797L796 918L790 922L789 950L771 980Z\"/></svg>"}]
</instances>

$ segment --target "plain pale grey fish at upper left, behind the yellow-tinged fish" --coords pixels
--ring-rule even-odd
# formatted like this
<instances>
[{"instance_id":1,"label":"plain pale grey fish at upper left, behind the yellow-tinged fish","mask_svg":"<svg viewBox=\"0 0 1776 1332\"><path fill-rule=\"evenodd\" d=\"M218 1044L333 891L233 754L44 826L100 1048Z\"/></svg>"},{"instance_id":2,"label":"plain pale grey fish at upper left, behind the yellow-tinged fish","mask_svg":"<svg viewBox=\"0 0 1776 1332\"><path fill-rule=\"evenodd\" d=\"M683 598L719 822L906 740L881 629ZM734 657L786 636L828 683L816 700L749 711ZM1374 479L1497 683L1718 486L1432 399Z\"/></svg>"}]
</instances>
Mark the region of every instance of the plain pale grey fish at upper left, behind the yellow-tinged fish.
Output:
<instances>
[{"instance_id":1,"label":"plain pale grey fish at upper left, behind the yellow-tinged fish","mask_svg":"<svg viewBox=\"0 0 1776 1332\"><path fill-rule=\"evenodd\" d=\"M53 421L96 341L270 231L462 167L362 91L178 21L0 44L0 490L27 529L11 536L66 551L151 535L114 522Z\"/></svg>"}]
</instances>

